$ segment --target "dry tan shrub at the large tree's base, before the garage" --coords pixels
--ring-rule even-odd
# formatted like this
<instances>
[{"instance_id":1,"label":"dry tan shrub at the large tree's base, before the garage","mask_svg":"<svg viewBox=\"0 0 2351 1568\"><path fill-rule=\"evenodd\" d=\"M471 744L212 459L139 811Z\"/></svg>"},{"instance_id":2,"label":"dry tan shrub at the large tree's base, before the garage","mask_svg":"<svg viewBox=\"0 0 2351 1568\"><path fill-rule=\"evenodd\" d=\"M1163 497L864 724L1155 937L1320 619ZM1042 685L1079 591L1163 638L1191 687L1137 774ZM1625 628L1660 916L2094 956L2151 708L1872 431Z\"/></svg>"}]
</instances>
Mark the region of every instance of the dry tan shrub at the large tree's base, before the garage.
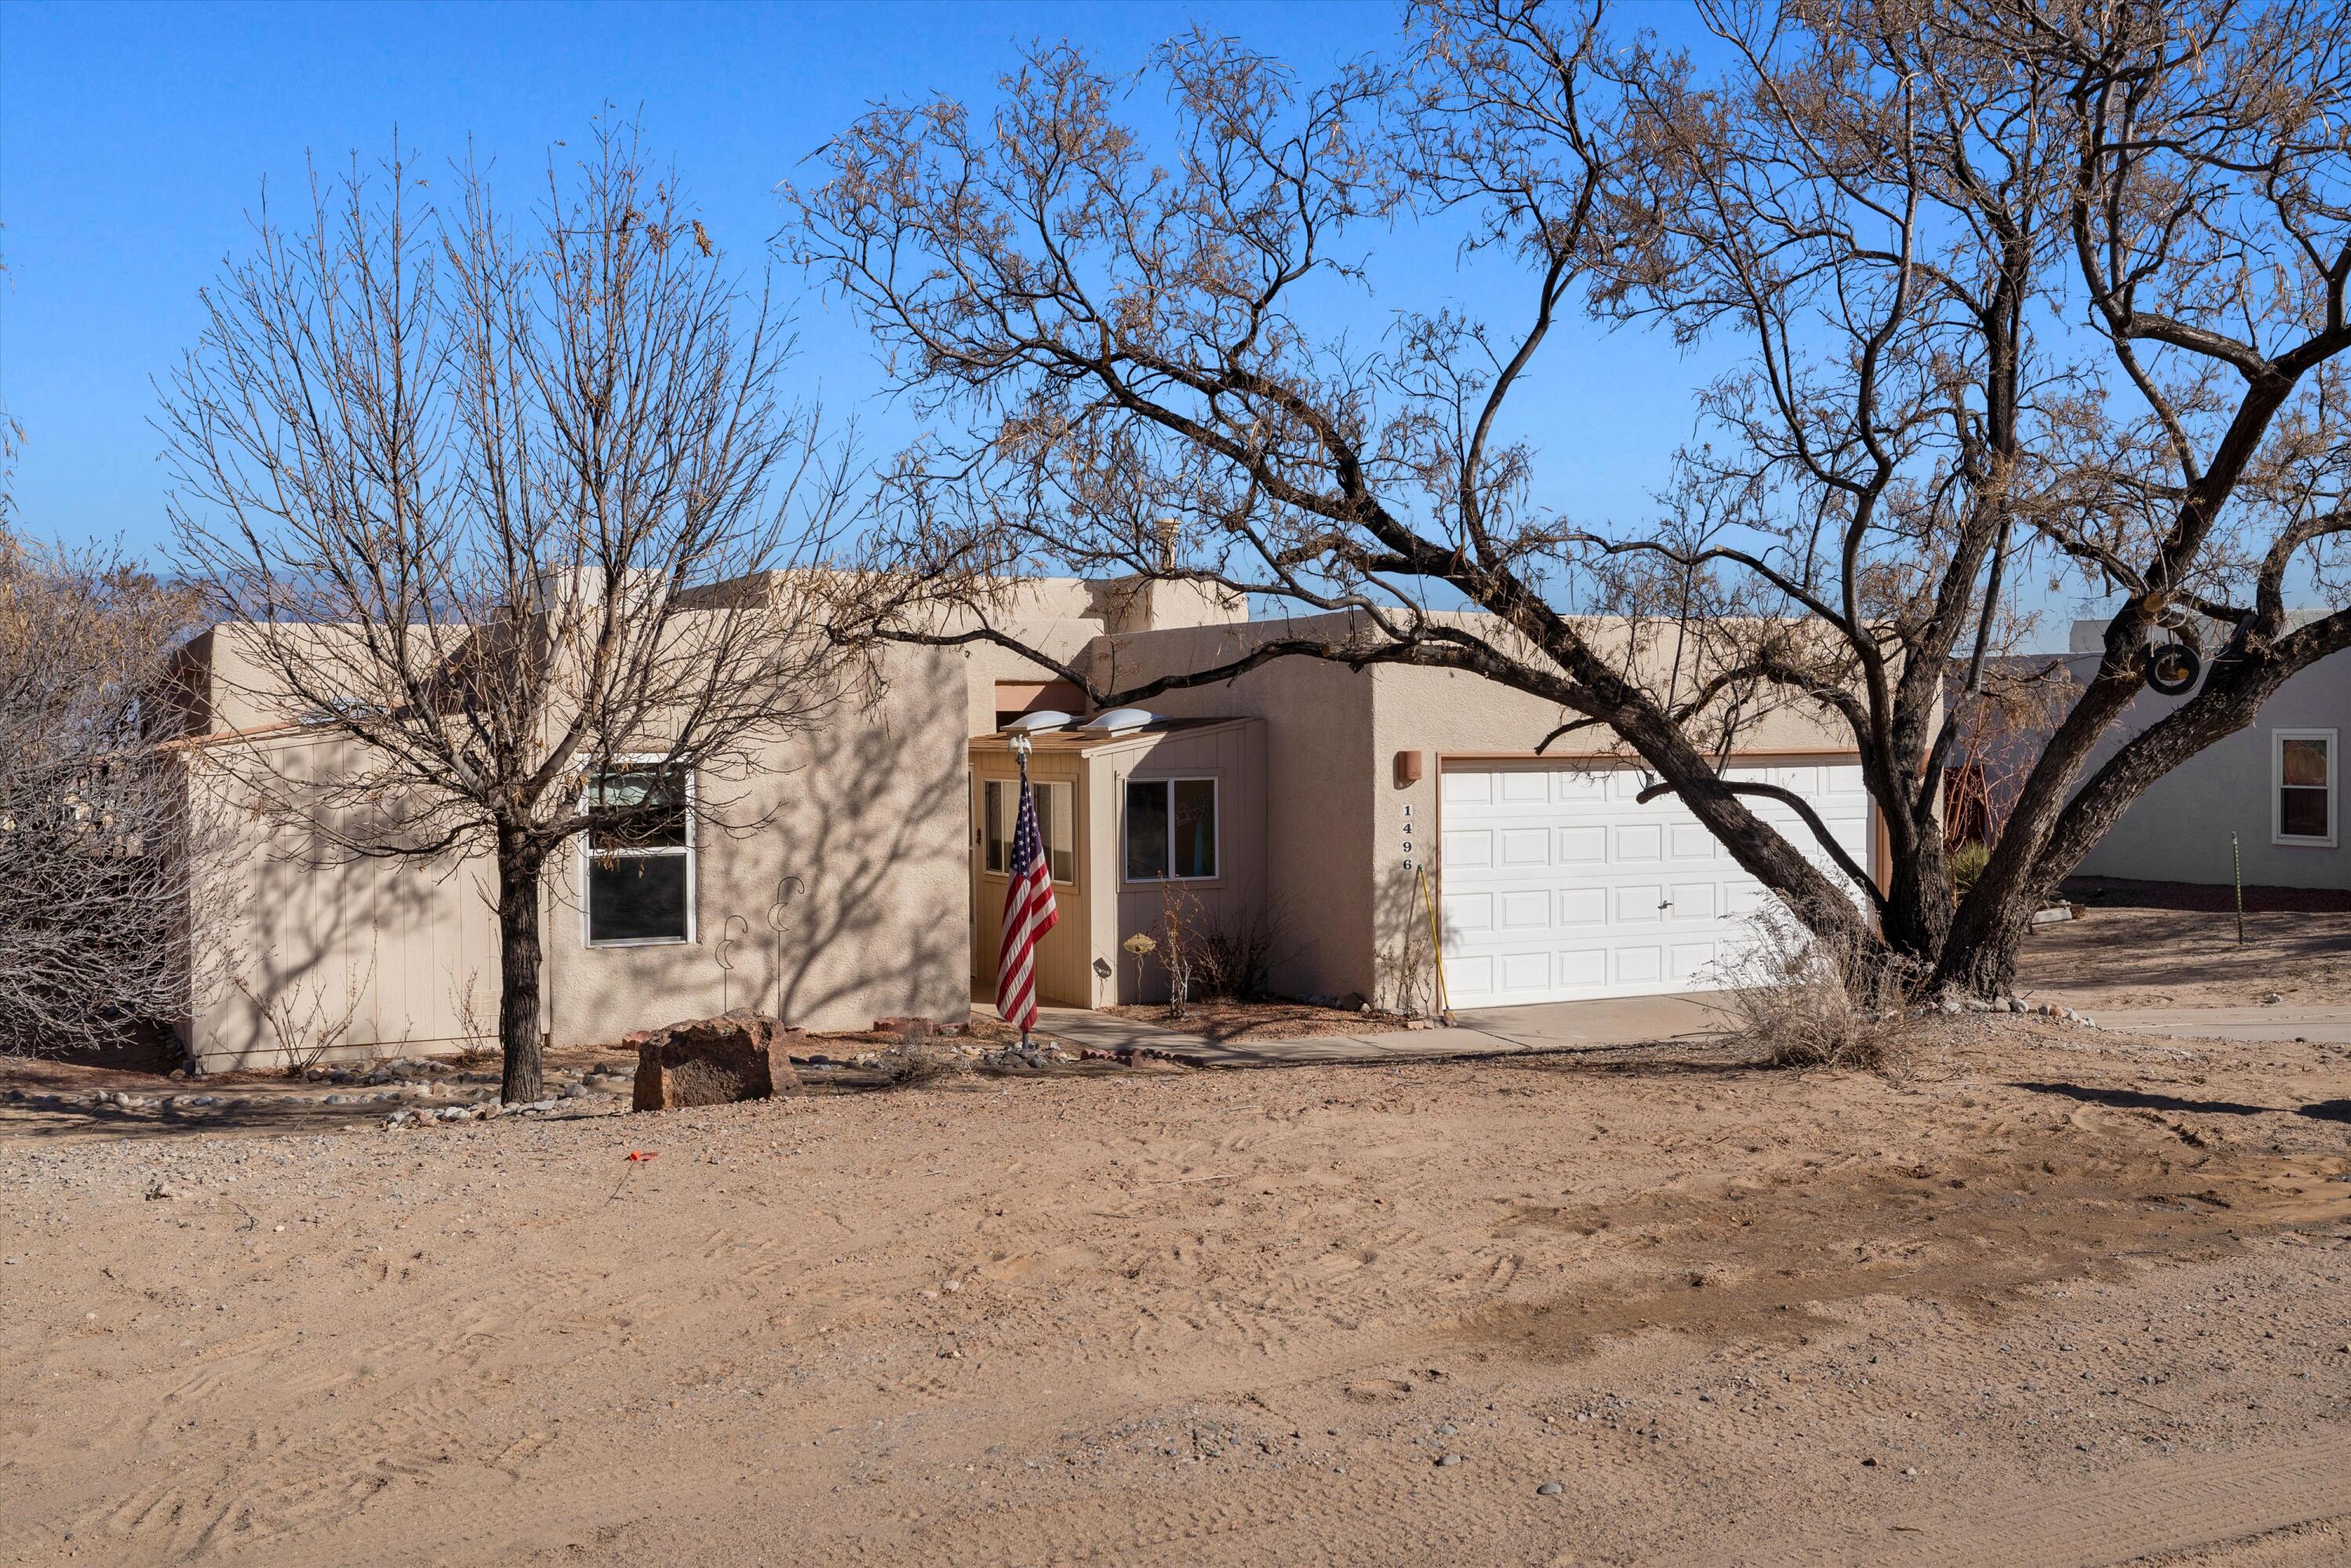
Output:
<instances>
[{"instance_id":1,"label":"dry tan shrub at the large tree's base, before the garage","mask_svg":"<svg viewBox=\"0 0 2351 1568\"><path fill-rule=\"evenodd\" d=\"M1890 1072L1909 1058L1909 997L1921 978L1909 964L1784 917L1759 917L1754 929L1754 947L1728 976L1733 1039L1773 1067Z\"/></svg>"}]
</instances>

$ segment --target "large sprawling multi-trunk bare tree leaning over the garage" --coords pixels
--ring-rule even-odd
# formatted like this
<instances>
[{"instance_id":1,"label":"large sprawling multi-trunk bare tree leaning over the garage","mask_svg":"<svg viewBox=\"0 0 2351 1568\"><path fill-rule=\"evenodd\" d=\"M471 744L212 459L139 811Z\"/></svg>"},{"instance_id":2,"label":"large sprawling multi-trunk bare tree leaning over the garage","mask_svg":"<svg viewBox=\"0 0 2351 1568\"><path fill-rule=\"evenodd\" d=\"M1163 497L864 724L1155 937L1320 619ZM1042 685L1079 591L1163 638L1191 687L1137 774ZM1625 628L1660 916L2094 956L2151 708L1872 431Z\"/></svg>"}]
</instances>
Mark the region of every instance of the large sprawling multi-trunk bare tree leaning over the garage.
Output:
<instances>
[{"instance_id":1,"label":"large sprawling multi-trunk bare tree leaning over the garage","mask_svg":"<svg viewBox=\"0 0 2351 1568\"><path fill-rule=\"evenodd\" d=\"M1516 0L1415 7L1399 68L1314 89L1180 38L1143 78L1171 106L1161 160L1124 85L1070 49L1032 54L985 118L860 118L790 193L785 244L943 430L884 494L893 635L1018 646L987 614L1037 567L1345 611L1117 693L1023 651L1100 703L1284 656L1483 675L1556 703L1542 748L1596 731L1655 771L1815 933L2008 985L2038 893L2095 832L2351 632L2278 618L2335 527L2351 28L2222 0L1704 21L1730 61L1704 82L1610 47L1592 9ZM1345 315L1312 327L1389 221L1509 268L1507 320L1399 313L1380 343ZM2067 315L2085 292L2088 327ZM1547 496L1568 484L1514 435L1580 308L1747 350L1704 390L1702 440L1660 451L1662 515L1625 529L1566 517ZM2222 376L2250 390L2222 397ZM2219 592L2236 562L2257 567ZM1954 914L1947 672L1954 708L1984 691L2027 569L2132 597ZM2236 628L2208 693L2076 790L2177 602ZM1777 705L1853 733L1893 842L1869 907L1801 799L1726 766Z\"/></svg>"}]
</instances>

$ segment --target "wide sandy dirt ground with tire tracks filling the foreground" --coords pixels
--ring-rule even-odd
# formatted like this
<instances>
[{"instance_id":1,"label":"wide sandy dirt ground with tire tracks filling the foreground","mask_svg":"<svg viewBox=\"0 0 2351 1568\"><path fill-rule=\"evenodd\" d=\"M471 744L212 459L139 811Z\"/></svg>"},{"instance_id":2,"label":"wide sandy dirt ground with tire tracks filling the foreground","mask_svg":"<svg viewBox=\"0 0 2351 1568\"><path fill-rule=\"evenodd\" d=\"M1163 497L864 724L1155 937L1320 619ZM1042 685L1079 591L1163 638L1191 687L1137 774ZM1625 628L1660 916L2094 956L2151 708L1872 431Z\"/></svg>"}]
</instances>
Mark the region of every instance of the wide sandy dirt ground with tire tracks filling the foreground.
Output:
<instances>
[{"instance_id":1,"label":"wide sandy dirt ground with tire tracks filling the foreground","mask_svg":"<svg viewBox=\"0 0 2351 1568\"><path fill-rule=\"evenodd\" d=\"M1944 1027L0 1107L0 1561L2351 1559L2351 1063Z\"/></svg>"}]
</instances>

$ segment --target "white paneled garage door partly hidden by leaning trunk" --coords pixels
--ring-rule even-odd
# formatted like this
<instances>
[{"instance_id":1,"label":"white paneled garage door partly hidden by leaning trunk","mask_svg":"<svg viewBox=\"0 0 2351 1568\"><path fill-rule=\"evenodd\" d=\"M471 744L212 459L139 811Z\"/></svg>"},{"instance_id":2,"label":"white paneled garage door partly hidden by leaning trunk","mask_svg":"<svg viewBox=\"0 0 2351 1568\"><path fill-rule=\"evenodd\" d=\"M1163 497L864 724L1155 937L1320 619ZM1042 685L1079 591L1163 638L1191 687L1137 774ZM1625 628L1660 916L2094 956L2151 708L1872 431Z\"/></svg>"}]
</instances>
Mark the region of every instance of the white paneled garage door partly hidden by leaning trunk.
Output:
<instances>
[{"instance_id":1,"label":"white paneled garage door partly hidden by leaning trunk","mask_svg":"<svg viewBox=\"0 0 2351 1568\"><path fill-rule=\"evenodd\" d=\"M1730 769L1787 785L1869 865L1869 795L1857 764ZM1763 886L1674 795L1634 797L1636 769L1444 771L1446 992L1458 1009L1643 997L1730 983L1754 945ZM1780 802L1749 802L1831 877L1810 830Z\"/></svg>"}]
</instances>

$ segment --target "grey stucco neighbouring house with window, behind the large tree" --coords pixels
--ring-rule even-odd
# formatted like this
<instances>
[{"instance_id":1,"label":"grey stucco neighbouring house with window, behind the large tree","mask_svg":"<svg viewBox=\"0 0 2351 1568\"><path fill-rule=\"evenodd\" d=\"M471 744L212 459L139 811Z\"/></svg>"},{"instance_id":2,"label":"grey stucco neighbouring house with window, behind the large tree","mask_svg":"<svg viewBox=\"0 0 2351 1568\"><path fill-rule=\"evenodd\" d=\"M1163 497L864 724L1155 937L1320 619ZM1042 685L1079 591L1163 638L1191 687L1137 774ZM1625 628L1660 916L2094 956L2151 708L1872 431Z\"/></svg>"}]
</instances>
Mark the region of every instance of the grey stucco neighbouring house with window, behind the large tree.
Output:
<instances>
[{"instance_id":1,"label":"grey stucco neighbouring house with window, behind the large tree","mask_svg":"<svg viewBox=\"0 0 2351 1568\"><path fill-rule=\"evenodd\" d=\"M2304 611L2309 618L2320 611ZM2076 621L2069 651L2017 656L2010 675L2043 670L2081 684L2104 651L2104 621ZM2217 646L2219 637L2205 637ZM2059 686L2059 696L2067 691ZM2193 691L2146 689L2090 755L2088 771ZM1989 837L2062 717L1996 733L1947 773L1951 842ZM2342 738L2351 729L2351 654L2290 677L2255 722L2158 778L2083 858L2083 877L2226 886L2351 889L2351 842L2342 832Z\"/></svg>"}]
</instances>

